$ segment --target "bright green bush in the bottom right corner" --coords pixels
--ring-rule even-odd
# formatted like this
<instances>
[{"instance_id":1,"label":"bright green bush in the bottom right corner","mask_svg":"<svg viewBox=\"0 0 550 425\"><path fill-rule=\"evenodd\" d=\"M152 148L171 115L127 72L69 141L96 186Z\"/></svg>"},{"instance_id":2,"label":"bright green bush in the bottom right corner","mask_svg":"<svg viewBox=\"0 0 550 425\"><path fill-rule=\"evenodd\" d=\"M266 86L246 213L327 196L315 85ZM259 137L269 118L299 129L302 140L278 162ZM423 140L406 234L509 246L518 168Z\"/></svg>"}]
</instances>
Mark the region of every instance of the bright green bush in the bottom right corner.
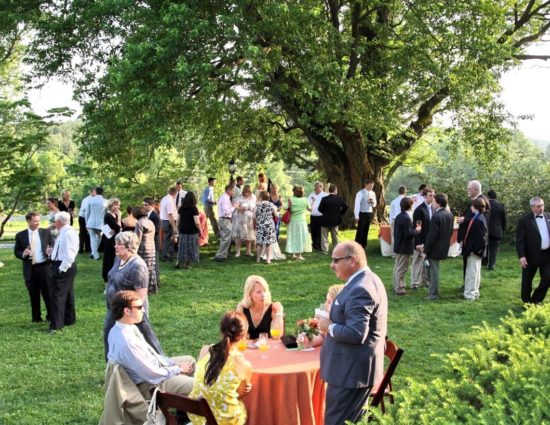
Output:
<instances>
[{"instance_id":1,"label":"bright green bush in the bottom right corner","mask_svg":"<svg viewBox=\"0 0 550 425\"><path fill-rule=\"evenodd\" d=\"M443 377L431 385L409 380L386 415L373 409L377 419L400 425L550 423L550 305L512 314L496 328L474 329L474 344L447 356Z\"/></svg>"}]
</instances>

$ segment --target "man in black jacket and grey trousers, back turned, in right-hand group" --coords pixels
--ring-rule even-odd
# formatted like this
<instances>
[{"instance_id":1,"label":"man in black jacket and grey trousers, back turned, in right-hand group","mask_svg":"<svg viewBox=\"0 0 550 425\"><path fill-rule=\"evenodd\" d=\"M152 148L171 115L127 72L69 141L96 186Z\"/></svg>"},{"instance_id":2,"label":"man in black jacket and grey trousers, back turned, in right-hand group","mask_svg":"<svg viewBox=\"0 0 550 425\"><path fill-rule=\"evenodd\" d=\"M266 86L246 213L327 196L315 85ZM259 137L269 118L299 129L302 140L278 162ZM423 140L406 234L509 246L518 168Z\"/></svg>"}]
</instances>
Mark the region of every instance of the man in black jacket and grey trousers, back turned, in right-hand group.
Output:
<instances>
[{"instance_id":1,"label":"man in black jacket and grey trousers, back turned, in right-hand group","mask_svg":"<svg viewBox=\"0 0 550 425\"><path fill-rule=\"evenodd\" d=\"M447 211L447 195L438 193L434 197L433 207L435 209L430 221L430 231L424 243L424 254L426 254L427 266L430 276L429 300L439 298L439 261L447 259L451 236L453 234L453 215Z\"/></svg>"}]
</instances>

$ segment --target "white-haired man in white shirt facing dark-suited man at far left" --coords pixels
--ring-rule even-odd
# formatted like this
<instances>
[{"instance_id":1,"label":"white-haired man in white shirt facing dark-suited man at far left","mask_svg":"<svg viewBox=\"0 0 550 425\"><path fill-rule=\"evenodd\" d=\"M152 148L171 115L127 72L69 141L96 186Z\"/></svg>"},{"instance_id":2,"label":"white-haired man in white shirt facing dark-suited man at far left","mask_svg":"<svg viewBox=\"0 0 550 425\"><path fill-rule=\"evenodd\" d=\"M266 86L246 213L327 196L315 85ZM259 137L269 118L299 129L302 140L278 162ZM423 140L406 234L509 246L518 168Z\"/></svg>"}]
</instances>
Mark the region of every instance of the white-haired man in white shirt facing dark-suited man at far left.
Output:
<instances>
[{"instance_id":1,"label":"white-haired man in white shirt facing dark-suited man at far left","mask_svg":"<svg viewBox=\"0 0 550 425\"><path fill-rule=\"evenodd\" d=\"M74 278L76 276L76 256L78 254L78 234L69 224L71 216L66 211L55 215L55 228L59 235L53 249L48 248L51 256L50 310L51 320L49 333L53 334L64 326L76 321L74 305Z\"/></svg>"}]
</instances>

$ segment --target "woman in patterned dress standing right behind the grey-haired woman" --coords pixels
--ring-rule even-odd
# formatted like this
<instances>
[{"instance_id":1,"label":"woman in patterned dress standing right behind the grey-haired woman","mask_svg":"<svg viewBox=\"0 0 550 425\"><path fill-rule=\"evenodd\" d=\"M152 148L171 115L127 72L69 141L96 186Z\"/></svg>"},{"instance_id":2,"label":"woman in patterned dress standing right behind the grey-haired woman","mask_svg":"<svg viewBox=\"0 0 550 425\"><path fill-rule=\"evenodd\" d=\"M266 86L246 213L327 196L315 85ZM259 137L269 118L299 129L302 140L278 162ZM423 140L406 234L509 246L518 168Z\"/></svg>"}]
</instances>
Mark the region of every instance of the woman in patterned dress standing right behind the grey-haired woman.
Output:
<instances>
[{"instance_id":1,"label":"woman in patterned dress standing right behind the grey-haired woman","mask_svg":"<svg viewBox=\"0 0 550 425\"><path fill-rule=\"evenodd\" d=\"M132 215L136 219L134 232L138 237L139 248L138 255L147 264L149 272L149 294L158 292L157 282L157 259L155 251L155 223L147 217L147 210L144 207L136 207L132 210Z\"/></svg>"}]
</instances>

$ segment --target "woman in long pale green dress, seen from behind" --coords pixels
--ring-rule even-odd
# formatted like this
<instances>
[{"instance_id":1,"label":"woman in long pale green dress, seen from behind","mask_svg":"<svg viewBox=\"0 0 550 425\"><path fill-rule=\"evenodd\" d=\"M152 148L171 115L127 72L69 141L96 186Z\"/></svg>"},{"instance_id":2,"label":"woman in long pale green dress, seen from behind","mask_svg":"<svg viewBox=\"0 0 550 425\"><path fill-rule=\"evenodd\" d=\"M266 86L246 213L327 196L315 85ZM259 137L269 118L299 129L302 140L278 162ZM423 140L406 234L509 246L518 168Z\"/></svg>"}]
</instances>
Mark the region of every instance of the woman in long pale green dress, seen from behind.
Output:
<instances>
[{"instance_id":1,"label":"woman in long pale green dress, seen from behind","mask_svg":"<svg viewBox=\"0 0 550 425\"><path fill-rule=\"evenodd\" d=\"M307 199L304 198L304 188L294 186L294 196L288 200L291 216L288 223L285 251L292 254L293 260L303 260L303 252L311 252L311 239L307 231L306 211L310 211Z\"/></svg>"}]
</instances>

